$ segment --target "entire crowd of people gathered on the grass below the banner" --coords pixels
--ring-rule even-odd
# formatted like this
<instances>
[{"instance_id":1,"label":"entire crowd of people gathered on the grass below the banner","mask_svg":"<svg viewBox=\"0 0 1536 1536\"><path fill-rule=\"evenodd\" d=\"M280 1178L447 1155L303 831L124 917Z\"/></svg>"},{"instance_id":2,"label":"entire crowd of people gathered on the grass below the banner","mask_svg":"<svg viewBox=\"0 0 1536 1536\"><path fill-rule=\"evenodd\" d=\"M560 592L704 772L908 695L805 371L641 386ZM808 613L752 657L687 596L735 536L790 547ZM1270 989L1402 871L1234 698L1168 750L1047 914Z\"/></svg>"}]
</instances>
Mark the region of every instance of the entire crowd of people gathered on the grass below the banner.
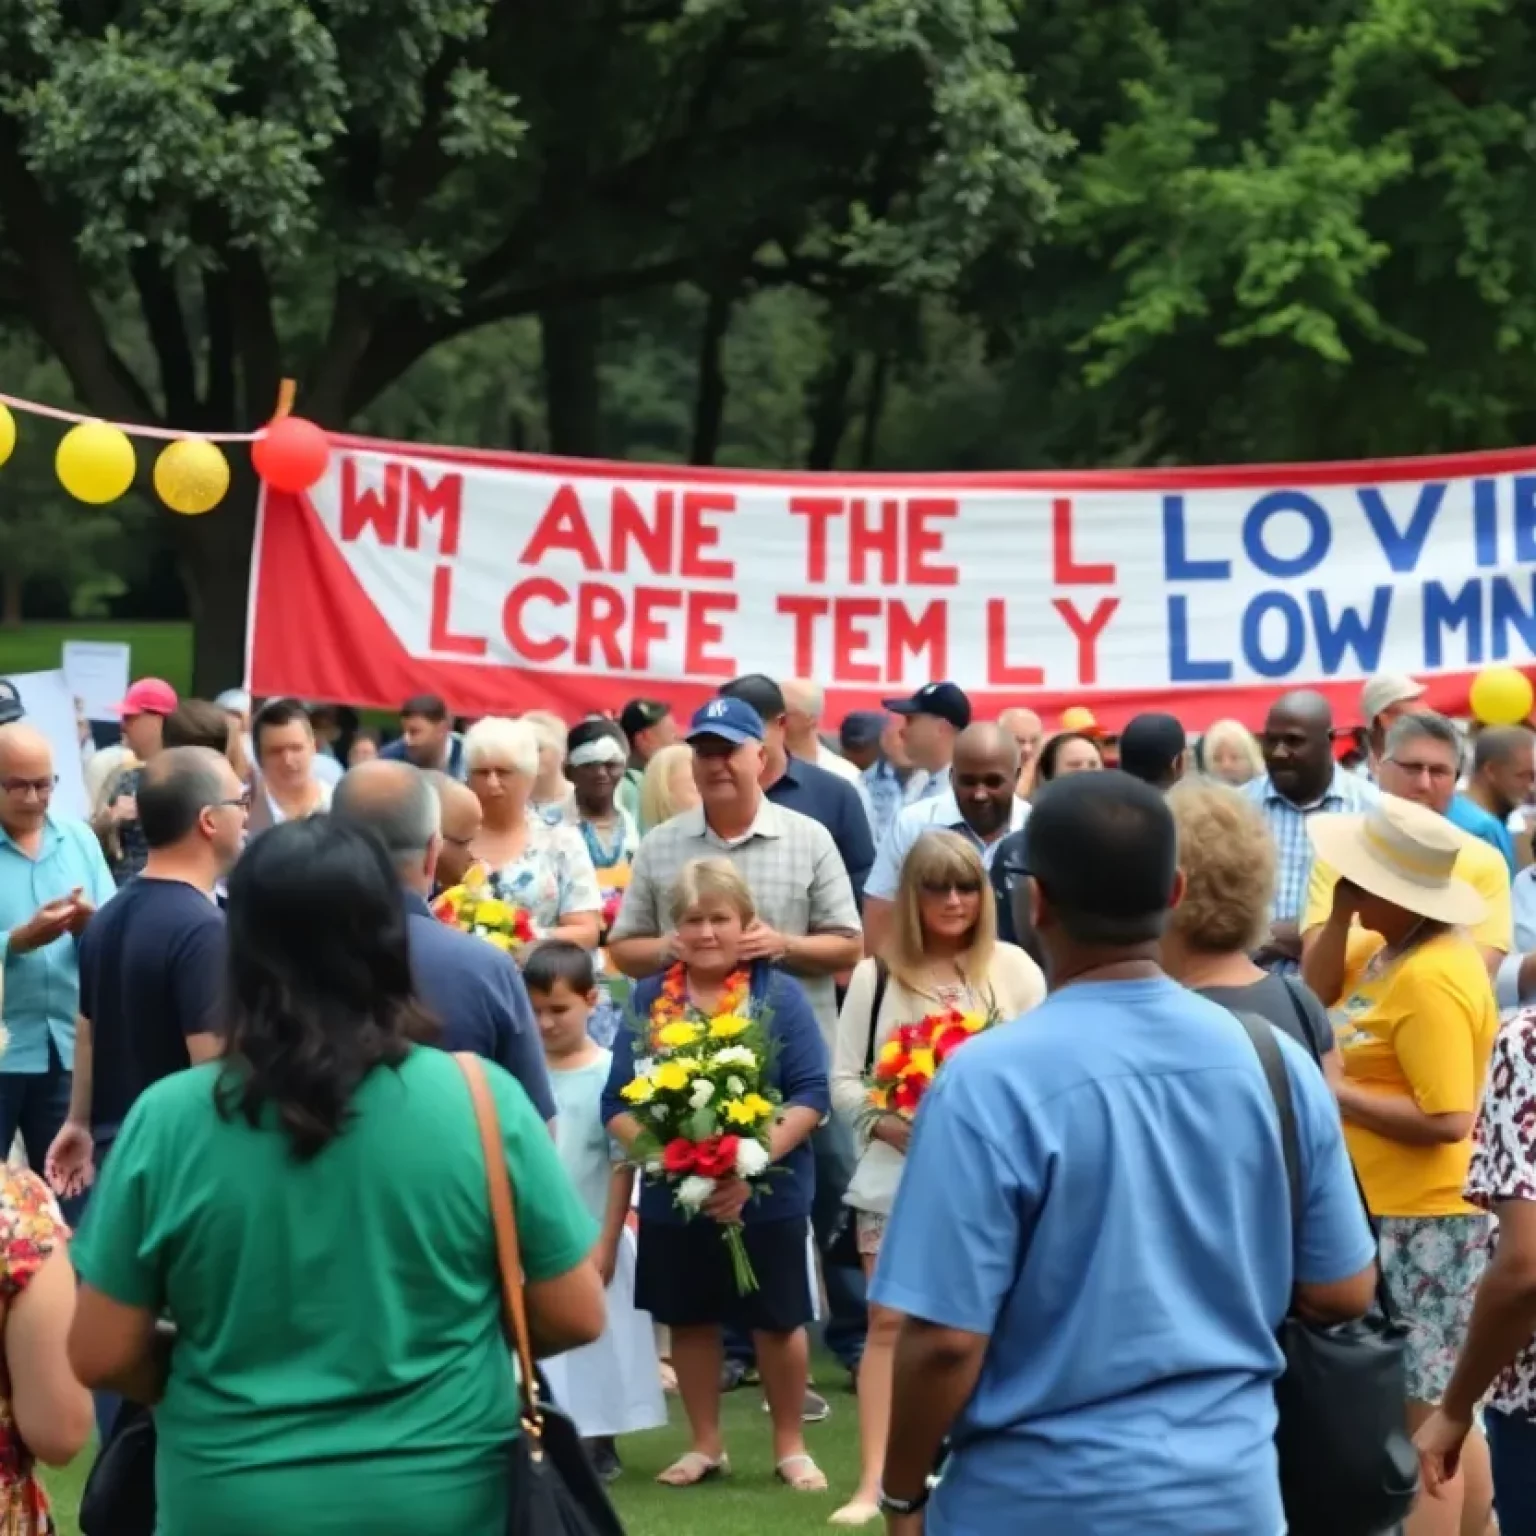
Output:
<instances>
[{"instance_id":1,"label":"entire crowd of people gathered on the grass below the banner","mask_svg":"<svg viewBox=\"0 0 1536 1536\"><path fill-rule=\"evenodd\" d=\"M1379 1284L1405 1531L1536 1530L1536 734L1422 700L1048 734L938 680L833 728L814 682L746 676L688 720L421 696L381 740L140 679L80 822L12 710L0 1528L51 1530L35 1464L144 1404L163 1536L501 1528L468 1052L545 1390L607 1479L664 1389L660 1481L730 1476L722 1395L760 1385L785 1493L828 1490L819 1326L857 1392L836 1525L1279 1536L1278 1330ZM530 942L445 922L467 886ZM874 1111L945 1011L986 1028ZM659 1020L737 1012L774 1177L687 1218L625 1087Z\"/></svg>"}]
</instances>

